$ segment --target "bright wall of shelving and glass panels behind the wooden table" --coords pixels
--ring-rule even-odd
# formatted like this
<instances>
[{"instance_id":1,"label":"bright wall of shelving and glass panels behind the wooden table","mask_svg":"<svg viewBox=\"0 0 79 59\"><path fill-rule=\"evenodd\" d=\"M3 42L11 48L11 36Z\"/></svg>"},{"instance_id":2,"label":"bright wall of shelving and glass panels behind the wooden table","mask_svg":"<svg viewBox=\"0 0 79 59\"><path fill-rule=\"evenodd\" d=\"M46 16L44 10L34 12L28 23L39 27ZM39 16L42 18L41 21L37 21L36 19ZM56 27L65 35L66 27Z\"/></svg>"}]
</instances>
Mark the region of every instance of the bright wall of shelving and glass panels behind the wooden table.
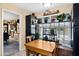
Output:
<instances>
[{"instance_id":1,"label":"bright wall of shelving and glass panels behind the wooden table","mask_svg":"<svg viewBox=\"0 0 79 59\"><path fill-rule=\"evenodd\" d=\"M63 46L71 47L73 40L73 20L68 18L68 13L65 14L65 18L59 21L57 16L48 15L35 19L31 17L31 35L35 38L36 33L39 34L40 39L44 39L46 36L48 40L59 40L59 43Z\"/></svg>"}]
</instances>

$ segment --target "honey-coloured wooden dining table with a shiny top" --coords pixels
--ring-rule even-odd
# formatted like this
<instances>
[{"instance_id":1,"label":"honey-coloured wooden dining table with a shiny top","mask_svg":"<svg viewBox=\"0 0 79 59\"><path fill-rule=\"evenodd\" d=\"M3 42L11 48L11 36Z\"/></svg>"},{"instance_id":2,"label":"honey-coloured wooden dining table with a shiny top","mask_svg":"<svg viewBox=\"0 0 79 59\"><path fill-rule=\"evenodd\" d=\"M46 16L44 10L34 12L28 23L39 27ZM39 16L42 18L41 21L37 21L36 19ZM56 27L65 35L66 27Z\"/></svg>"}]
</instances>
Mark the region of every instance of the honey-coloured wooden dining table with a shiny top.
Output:
<instances>
[{"instance_id":1,"label":"honey-coloured wooden dining table with a shiny top","mask_svg":"<svg viewBox=\"0 0 79 59\"><path fill-rule=\"evenodd\" d=\"M35 52L44 56L56 55L55 42L44 41L41 39L25 43L26 54L29 56L29 52Z\"/></svg>"}]
</instances>

